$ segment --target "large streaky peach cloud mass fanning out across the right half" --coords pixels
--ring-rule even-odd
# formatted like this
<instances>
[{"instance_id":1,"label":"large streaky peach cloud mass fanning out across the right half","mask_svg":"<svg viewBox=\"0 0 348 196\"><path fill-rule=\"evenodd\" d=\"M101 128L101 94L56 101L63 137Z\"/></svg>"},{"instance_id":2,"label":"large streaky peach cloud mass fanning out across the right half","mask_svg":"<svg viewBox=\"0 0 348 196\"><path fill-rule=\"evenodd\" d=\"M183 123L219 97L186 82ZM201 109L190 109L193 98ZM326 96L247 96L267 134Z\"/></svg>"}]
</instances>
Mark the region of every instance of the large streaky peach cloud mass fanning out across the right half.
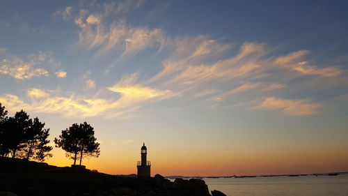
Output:
<instances>
[{"instance_id":1,"label":"large streaky peach cloud mass fanning out across the right half","mask_svg":"<svg viewBox=\"0 0 348 196\"><path fill-rule=\"evenodd\" d=\"M340 68L309 66L313 63L306 59L306 55L309 53L306 50L277 56L272 54L272 50L267 49L264 43L244 43L235 56L221 59L219 54L230 50L228 45L221 47L223 50L219 51L210 50L209 47L217 48L214 46L217 43L207 39L202 39L200 42L196 40L196 46L190 45L188 40L183 41L187 45L181 41L177 41L179 44L177 44L173 56L162 62L163 69L145 84L157 84L164 88L175 89L182 92L183 96L185 93L187 95L193 93L191 96L193 98L207 96L207 100L223 104L226 104L226 100L239 94L241 99L237 100L237 105L245 107L247 105L244 103L255 103L253 97L265 96L269 98L253 109L279 109L292 116L316 114L322 104L311 103L308 98L288 100L274 96L279 93L284 94L286 89L301 91L301 88L308 89L309 86L312 86L312 89L318 89L320 88L318 83L327 86L325 81L328 82L328 80L324 80L323 77L330 77L329 83L335 86L347 85L347 82L343 82L346 81L346 77L342 75L344 71ZM218 56L215 63L204 63L204 56L209 52L213 52L214 58ZM194 57L199 58L193 61ZM289 72L289 70L293 72ZM306 75L313 75L313 77L304 77ZM299 85L296 90L292 89L295 84L292 84L291 81L299 77L304 77L302 84L306 85ZM240 83L242 83L241 86L236 86ZM324 89L325 87L323 87ZM246 93L252 93L253 96L246 96Z\"/></svg>"}]
</instances>

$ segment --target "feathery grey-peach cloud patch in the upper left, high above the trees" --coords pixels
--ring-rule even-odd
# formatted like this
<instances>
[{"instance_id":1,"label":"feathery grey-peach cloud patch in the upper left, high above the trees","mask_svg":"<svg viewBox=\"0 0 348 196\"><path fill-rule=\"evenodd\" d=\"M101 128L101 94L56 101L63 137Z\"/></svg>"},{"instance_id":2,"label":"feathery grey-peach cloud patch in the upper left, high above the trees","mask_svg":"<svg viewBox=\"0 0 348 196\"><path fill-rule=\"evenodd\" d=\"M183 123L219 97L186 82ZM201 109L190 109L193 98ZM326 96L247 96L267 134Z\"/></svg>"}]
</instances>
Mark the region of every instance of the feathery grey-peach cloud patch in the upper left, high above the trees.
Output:
<instances>
[{"instance_id":1,"label":"feathery grey-peach cloud patch in the upper left, high above the trees","mask_svg":"<svg viewBox=\"0 0 348 196\"><path fill-rule=\"evenodd\" d=\"M88 17L89 18L89 17ZM93 20L90 20L92 22ZM94 22L84 23L77 20L81 27L77 45L88 49L97 48L97 54L102 55L111 50L123 50L123 54L134 54L154 45L164 45L165 38L160 29L145 27L129 27L125 21L112 24Z\"/></svg>"}]
</instances>

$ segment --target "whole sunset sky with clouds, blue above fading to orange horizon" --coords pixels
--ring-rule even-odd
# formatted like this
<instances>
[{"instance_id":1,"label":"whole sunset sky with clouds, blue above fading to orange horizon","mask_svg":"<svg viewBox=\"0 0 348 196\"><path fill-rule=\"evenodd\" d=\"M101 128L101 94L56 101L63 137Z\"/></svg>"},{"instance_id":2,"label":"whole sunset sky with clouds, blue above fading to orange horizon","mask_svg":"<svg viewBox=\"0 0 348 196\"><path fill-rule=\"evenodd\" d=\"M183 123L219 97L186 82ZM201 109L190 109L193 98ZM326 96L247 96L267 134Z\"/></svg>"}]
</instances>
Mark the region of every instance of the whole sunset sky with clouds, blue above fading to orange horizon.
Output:
<instances>
[{"instance_id":1,"label":"whole sunset sky with clouds, blue above fading to orange horizon","mask_svg":"<svg viewBox=\"0 0 348 196\"><path fill-rule=\"evenodd\" d=\"M347 1L0 1L0 103L90 123L89 169L348 171ZM54 148L47 163L72 160Z\"/></svg>"}]
</instances>

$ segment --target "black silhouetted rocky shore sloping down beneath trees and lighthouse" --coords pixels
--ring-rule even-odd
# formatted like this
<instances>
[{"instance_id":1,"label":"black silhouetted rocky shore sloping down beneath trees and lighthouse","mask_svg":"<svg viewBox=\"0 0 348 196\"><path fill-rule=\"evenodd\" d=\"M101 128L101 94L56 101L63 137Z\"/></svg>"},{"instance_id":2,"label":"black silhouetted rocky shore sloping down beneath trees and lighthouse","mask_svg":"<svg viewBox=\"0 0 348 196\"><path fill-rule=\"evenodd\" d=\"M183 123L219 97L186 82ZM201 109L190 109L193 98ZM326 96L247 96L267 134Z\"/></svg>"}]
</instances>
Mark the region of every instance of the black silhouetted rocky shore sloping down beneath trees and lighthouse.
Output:
<instances>
[{"instance_id":1,"label":"black silhouetted rocky shore sloping down beneath trees and lighthouse","mask_svg":"<svg viewBox=\"0 0 348 196\"><path fill-rule=\"evenodd\" d=\"M224 194L213 190L212 196ZM102 174L89 169L56 167L13 158L0 158L0 196L114 195L209 196L205 181L156 174L146 179Z\"/></svg>"}]
</instances>

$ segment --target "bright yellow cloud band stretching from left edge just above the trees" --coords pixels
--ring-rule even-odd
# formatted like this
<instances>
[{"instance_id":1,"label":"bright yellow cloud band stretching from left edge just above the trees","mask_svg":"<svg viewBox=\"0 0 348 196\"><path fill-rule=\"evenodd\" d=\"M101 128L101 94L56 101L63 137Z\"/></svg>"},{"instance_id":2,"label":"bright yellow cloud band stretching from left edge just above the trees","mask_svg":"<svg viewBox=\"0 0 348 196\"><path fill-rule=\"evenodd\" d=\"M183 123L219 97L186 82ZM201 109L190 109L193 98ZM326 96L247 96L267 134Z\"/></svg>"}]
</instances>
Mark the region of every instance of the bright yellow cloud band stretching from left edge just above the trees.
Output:
<instances>
[{"instance_id":1,"label":"bright yellow cloud band stretching from left edge just above the trees","mask_svg":"<svg viewBox=\"0 0 348 196\"><path fill-rule=\"evenodd\" d=\"M125 116L129 112L138 110L141 106L159 100L171 98L174 94L169 91L152 89L149 86L135 84L134 75L124 77L114 86L109 87L115 93L113 99L87 98L74 93L64 95L57 91L31 89L27 92L29 100L12 94L0 96L0 103L8 110L27 110L35 113L61 114L65 117L77 119L104 116L115 118ZM129 79L131 78L131 79Z\"/></svg>"}]
</instances>

